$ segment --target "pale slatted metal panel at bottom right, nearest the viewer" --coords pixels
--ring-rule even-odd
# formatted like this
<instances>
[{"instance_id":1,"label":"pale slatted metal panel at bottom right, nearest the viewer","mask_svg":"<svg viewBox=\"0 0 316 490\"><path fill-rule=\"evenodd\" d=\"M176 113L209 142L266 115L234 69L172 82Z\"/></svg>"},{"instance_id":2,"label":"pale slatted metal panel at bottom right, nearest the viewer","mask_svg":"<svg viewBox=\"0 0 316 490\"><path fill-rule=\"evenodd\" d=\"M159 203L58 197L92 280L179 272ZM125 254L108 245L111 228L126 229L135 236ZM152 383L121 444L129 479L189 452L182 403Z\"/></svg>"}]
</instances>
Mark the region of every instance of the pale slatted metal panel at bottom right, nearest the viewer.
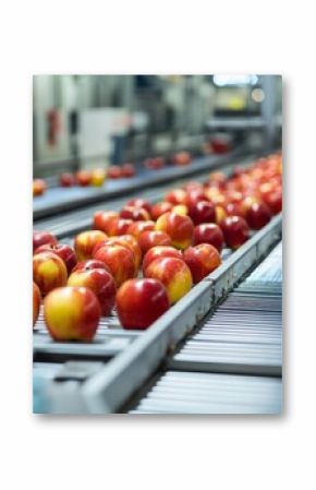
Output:
<instances>
[{"instance_id":1,"label":"pale slatted metal panel at bottom right, nearest the viewer","mask_svg":"<svg viewBox=\"0 0 316 490\"><path fill-rule=\"evenodd\" d=\"M277 378L167 371L130 414L279 414Z\"/></svg>"}]
</instances>

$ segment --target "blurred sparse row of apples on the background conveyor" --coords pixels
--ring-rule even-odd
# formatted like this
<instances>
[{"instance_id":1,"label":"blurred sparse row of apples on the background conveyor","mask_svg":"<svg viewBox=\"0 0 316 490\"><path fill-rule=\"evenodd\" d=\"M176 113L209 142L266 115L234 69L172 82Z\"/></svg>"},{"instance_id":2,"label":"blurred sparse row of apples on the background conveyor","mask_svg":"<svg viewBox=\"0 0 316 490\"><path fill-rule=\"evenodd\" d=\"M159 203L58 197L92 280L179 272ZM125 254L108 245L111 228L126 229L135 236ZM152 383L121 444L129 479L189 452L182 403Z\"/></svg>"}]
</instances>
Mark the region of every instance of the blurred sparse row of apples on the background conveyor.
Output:
<instances>
[{"instance_id":1,"label":"blurred sparse row of apples on the background conveyor","mask_svg":"<svg viewBox=\"0 0 316 490\"><path fill-rule=\"evenodd\" d=\"M180 152L171 159L175 166L186 166L192 162L191 155L187 152ZM143 163L144 167L149 170L158 170L166 166L166 159L162 157L147 158ZM134 164L111 165L106 171L102 168L95 168L93 170L80 170L76 174L63 172L59 176L59 184L62 188L70 188L73 186L95 186L100 187L106 179L122 179L134 177L136 168ZM47 190L47 184L44 179L34 179L33 195L42 195Z\"/></svg>"}]
</instances>

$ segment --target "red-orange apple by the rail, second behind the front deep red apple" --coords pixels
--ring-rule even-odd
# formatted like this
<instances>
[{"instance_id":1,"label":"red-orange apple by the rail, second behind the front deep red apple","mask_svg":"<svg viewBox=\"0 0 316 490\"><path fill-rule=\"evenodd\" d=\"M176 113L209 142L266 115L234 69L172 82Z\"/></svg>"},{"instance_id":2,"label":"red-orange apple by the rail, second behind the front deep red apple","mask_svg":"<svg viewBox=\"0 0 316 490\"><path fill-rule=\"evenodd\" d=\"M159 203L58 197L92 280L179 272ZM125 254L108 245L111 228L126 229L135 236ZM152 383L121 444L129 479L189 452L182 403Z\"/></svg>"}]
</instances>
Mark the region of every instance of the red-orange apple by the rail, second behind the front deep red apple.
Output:
<instances>
[{"instance_id":1,"label":"red-orange apple by the rail, second behind the front deep red apple","mask_svg":"<svg viewBox=\"0 0 316 490\"><path fill-rule=\"evenodd\" d=\"M194 284L208 276L221 263L219 251L209 243L189 247L183 252L183 260L191 271Z\"/></svg>"}]
</instances>

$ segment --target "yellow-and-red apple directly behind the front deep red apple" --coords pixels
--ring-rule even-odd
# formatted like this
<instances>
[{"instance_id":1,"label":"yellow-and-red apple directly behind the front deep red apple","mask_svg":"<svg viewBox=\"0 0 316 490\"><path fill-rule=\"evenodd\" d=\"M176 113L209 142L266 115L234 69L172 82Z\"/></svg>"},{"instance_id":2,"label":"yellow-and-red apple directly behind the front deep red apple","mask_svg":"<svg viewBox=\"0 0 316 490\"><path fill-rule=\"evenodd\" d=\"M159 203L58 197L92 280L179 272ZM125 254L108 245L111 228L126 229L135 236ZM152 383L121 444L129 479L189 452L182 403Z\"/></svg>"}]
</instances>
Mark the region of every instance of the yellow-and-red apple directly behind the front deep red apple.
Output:
<instances>
[{"instance_id":1,"label":"yellow-and-red apple directly behind the front deep red apple","mask_svg":"<svg viewBox=\"0 0 316 490\"><path fill-rule=\"evenodd\" d=\"M172 256L163 256L150 262L146 267L145 277L163 284L170 304L174 304L185 296L193 285L189 266L183 260Z\"/></svg>"}]
</instances>

